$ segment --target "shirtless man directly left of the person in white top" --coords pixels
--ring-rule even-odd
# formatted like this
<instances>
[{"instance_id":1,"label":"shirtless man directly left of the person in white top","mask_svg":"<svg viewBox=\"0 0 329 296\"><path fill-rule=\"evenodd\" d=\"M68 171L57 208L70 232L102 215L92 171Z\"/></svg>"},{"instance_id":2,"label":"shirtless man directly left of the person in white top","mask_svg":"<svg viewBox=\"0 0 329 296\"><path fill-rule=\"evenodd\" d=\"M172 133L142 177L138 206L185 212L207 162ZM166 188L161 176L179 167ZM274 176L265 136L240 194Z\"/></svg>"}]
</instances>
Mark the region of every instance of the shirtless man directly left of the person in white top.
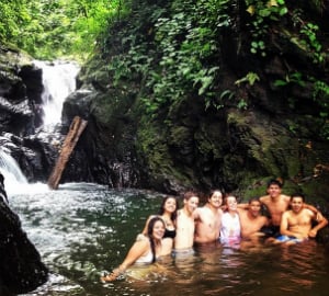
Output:
<instances>
[{"instance_id":1,"label":"shirtless man directly left of the person in white top","mask_svg":"<svg viewBox=\"0 0 329 296\"><path fill-rule=\"evenodd\" d=\"M211 192L207 203L194 210L196 221L194 241L196 243L214 242L219 239L223 210L223 194L219 190Z\"/></svg>"}]
</instances>

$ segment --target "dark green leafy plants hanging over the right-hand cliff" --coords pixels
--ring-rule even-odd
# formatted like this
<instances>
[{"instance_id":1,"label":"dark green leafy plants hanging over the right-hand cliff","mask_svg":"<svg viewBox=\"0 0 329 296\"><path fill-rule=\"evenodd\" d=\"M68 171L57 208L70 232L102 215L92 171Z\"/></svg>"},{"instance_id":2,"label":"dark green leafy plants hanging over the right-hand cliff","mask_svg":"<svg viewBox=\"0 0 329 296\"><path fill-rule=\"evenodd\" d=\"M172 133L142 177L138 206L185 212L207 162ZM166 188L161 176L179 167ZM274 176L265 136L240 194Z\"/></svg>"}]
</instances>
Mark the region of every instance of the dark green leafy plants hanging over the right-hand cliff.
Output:
<instances>
[{"instance_id":1,"label":"dark green leafy plants hanging over the right-hand cliff","mask_svg":"<svg viewBox=\"0 0 329 296\"><path fill-rule=\"evenodd\" d=\"M204 101L205 110L223 109L232 102L240 110L248 109L250 99L241 91L242 84L250 89L260 81L252 65L231 86L219 84L226 71L219 62L226 47L223 36L228 34L235 36L236 45L229 49L236 50L235 55L247 49L241 49L246 41L252 55L262 58L273 55L273 50L282 50L272 43L277 35L300 48L311 62L321 67L326 64L321 32L303 5L290 7L284 0L172 1L166 8L161 1L151 7L147 1L139 4L138 12L146 11L143 20L148 26L144 31L147 37L136 37L140 34L137 27L140 29L141 19L129 20L134 27L125 37L129 50L112 57L109 69L114 71L115 83L128 77L145 81L141 98L152 117L170 113L185 98ZM307 75L287 71L272 83L279 88L292 83L309 87L303 76Z\"/></svg>"}]
</instances>

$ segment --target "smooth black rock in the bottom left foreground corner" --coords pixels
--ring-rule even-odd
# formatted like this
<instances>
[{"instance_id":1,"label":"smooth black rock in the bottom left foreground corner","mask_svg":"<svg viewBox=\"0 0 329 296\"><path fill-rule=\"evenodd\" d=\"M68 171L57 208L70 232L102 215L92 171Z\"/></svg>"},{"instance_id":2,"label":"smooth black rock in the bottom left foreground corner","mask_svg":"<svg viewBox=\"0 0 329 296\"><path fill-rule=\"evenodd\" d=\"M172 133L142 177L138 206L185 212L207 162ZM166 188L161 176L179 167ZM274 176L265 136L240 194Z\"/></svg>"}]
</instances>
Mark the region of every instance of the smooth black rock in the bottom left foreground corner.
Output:
<instances>
[{"instance_id":1,"label":"smooth black rock in the bottom left foreground corner","mask_svg":"<svg viewBox=\"0 0 329 296\"><path fill-rule=\"evenodd\" d=\"M34 291L48 278L48 269L8 204L0 174L0 295Z\"/></svg>"}]
</instances>

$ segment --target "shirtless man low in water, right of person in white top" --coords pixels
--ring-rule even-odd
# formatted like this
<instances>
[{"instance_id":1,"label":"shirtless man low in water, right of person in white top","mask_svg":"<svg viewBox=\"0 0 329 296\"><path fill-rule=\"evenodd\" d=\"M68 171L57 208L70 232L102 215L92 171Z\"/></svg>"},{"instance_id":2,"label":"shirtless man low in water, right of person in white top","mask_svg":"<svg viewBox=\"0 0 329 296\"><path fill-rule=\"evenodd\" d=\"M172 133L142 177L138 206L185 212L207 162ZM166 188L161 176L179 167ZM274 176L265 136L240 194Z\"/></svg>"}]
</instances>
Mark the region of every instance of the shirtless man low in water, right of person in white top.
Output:
<instances>
[{"instance_id":1,"label":"shirtless man low in water, right of person in white top","mask_svg":"<svg viewBox=\"0 0 329 296\"><path fill-rule=\"evenodd\" d=\"M251 198L248 209L238 208L238 212L241 224L241 237L243 239L264 236L261 228L269 226L270 219L261 215L261 202L259 198Z\"/></svg>"}]
</instances>

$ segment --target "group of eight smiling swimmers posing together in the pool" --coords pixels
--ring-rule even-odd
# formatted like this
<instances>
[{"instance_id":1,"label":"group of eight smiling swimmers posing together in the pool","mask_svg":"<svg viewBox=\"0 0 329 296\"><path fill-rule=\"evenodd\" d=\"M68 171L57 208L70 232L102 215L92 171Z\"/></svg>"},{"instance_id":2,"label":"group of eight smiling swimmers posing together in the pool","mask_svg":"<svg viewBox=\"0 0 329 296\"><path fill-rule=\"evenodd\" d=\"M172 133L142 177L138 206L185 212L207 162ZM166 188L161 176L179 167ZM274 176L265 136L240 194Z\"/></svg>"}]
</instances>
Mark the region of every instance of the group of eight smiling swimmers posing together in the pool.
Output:
<instances>
[{"instance_id":1,"label":"group of eight smiling swimmers posing together in the pool","mask_svg":"<svg viewBox=\"0 0 329 296\"><path fill-rule=\"evenodd\" d=\"M111 282L135 263L152 263L160 257L193 253L195 244L220 242L234 247L260 237L269 243L298 243L315 238L328 220L302 194L282 194L282 183L270 180L266 195L238 203L236 196L214 190L203 206L195 192L186 192L183 207L166 196L158 215L151 215L123 263L101 277ZM262 214L265 207L269 217Z\"/></svg>"}]
</instances>

